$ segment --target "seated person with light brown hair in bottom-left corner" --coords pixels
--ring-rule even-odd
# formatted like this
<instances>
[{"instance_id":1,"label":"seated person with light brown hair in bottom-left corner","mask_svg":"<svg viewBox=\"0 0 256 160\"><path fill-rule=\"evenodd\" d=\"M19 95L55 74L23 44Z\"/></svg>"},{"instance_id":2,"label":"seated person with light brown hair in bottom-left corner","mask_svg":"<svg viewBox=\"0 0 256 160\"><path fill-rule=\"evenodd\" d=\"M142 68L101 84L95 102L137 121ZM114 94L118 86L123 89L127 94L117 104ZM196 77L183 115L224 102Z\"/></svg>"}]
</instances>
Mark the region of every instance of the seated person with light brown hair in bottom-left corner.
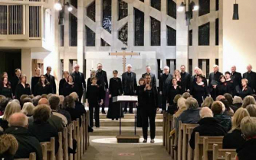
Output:
<instances>
[{"instance_id":1,"label":"seated person with light brown hair in bottom-left corner","mask_svg":"<svg viewBox=\"0 0 256 160\"><path fill-rule=\"evenodd\" d=\"M4 134L0 136L0 159L11 160L18 149L18 142L15 136Z\"/></svg>"}]
</instances>

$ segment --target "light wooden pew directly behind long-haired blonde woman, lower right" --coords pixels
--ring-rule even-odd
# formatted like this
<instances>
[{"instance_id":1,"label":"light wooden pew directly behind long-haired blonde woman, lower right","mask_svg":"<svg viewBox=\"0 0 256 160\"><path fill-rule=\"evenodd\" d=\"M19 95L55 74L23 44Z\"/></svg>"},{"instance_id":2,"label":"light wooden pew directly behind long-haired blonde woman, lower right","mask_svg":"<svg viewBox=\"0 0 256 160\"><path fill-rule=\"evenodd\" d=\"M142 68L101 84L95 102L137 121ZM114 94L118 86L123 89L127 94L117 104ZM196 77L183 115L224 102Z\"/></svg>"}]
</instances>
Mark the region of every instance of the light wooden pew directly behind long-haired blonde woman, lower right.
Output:
<instances>
[{"instance_id":1,"label":"light wooden pew directly behind long-haired blonde woman, lower right","mask_svg":"<svg viewBox=\"0 0 256 160\"><path fill-rule=\"evenodd\" d=\"M235 158L236 150L235 149L219 149L218 144L213 144L213 160L223 160L225 159L226 152L230 153L231 158Z\"/></svg>"}]
</instances>

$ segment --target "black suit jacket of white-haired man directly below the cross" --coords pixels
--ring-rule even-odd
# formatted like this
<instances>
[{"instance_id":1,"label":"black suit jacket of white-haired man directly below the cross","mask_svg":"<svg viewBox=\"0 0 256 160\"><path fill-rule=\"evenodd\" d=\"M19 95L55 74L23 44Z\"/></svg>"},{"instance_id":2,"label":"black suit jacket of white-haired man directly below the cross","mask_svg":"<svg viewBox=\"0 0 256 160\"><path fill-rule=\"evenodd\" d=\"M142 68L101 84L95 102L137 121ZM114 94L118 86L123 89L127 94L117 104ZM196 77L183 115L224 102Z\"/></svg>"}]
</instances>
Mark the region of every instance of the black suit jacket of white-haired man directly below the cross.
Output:
<instances>
[{"instance_id":1,"label":"black suit jacket of white-haired man directly below the cross","mask_svg":"<svg viewBox=\"0 0 256 160\"><path fill-rule=\"evenodd\" d=\"M124 72L122 75L122 86L123 92L125 95L134 95L136 94L137 81L136 74L134 72L130 72L130 76L128 72Z\"/></svg>"}]
</instances>

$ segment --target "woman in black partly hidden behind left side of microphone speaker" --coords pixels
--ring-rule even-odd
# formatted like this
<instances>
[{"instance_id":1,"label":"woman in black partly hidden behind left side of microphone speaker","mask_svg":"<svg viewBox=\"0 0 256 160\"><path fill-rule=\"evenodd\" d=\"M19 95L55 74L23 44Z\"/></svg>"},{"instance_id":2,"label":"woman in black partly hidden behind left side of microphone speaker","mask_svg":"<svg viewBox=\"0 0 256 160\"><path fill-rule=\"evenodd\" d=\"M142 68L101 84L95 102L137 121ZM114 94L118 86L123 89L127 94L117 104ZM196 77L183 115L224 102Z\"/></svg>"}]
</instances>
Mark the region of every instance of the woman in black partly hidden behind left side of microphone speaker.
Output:
<instances>
[{"instance_id":1,"label":"woman in black partly hidden behind left side of microphone speaker","mask_svg":"<svg viewBox=\"0 0 256 160\"><path fill-rule=\"evenodd\" d=\"M136 103L137 111L136 111L136 126L142 127L142 104L143 104L143 91L145 88L145 78L139 78L139 86L137 88L136 94L138 95L138 102Z\"/></svg>"}]
</instances>

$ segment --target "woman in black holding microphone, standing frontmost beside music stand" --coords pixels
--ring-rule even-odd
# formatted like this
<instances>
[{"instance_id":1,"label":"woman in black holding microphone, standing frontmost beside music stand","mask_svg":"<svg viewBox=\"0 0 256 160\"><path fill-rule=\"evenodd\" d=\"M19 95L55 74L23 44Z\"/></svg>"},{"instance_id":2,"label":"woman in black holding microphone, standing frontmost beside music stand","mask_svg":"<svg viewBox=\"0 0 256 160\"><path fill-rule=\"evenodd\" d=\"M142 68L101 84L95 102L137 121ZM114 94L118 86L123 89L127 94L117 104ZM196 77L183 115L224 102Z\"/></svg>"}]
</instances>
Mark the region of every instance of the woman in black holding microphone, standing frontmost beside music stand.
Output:
<instances>
[{"instance_id":1,"label":"woman in black holding microphone, standing frontmost beside music stand","mask_svg":"<svg viewBox=\"0 0 256 160\"><path fill-rule=\"evenodd\" d=\"M148 125L150 126L150 142L155 142L156 136L156 110L158 108L158 96L156 87L151 85L151 76L146 75L146 85L143 89L142 117L143 117L143 142L147 142Z\"/></svg>"}]
</instances>

